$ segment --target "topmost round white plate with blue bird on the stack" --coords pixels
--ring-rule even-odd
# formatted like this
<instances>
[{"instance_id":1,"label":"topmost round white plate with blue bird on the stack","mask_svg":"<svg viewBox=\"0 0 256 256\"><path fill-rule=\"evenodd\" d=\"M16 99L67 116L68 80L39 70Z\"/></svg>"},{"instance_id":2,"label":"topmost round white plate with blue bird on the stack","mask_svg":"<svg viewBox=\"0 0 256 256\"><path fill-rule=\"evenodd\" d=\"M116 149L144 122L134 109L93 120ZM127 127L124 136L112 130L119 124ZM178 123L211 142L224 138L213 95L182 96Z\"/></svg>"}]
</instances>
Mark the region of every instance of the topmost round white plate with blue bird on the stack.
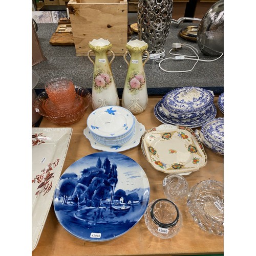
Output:
<instances>
[{"instance_id":1,"label":"topmost round white plate with blue bird on the stack","mask_svg":"<svg viewBox=\"0 0 256 256\"><path fill-rule=\"evenodd\" d=\"M134 115L121 106L102 106L87 119L87 126L97 136L117 138L124 136L134 126Z\"/></svg>"}]
</instances>

